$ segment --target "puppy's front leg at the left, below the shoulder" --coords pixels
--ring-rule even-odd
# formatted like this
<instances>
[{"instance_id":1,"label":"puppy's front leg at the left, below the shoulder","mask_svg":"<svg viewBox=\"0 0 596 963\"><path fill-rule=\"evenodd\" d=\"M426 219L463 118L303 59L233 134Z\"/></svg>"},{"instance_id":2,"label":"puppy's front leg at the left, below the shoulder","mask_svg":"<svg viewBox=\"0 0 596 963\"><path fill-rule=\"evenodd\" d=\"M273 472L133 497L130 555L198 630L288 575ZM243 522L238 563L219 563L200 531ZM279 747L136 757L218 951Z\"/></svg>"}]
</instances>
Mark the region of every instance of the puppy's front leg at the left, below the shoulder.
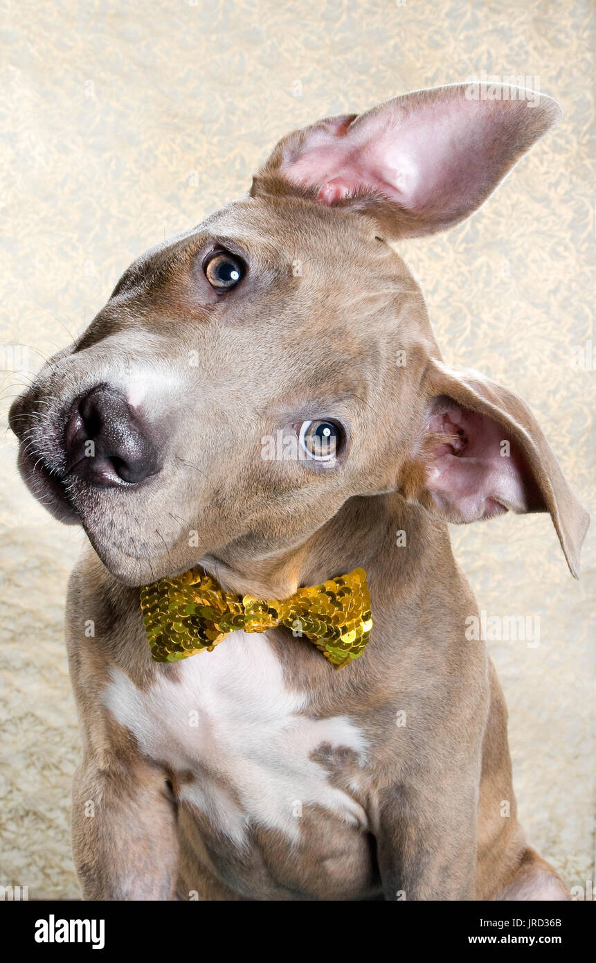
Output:
<instances>
[{"instance_id":1,"label":"puppy's front leg at the left, below the shoulder","mask_svg":"<svg viewBox=\"0 0 596 963\"><path fill-rule=\"evenodd\" d=\"M175 810L166 776L143 758L106 768L86 759L74 777L74 863L85 899L174 899Z\"/></svg>"}]
</instances>

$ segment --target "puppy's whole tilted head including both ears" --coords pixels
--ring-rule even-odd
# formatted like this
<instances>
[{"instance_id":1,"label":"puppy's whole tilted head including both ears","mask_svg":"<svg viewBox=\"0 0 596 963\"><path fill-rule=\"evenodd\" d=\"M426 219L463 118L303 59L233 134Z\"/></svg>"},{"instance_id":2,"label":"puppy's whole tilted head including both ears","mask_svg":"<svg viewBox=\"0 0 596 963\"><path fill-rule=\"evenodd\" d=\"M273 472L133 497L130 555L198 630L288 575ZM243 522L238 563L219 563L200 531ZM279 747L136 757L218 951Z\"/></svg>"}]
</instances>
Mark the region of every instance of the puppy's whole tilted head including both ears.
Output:
<instances>
[{"instance_id":1,"label":"puppy's whole tilted head including both ears","mask_svg":"<svg viewBox=\"0 0 596 963\"><path fill-rule=\"evenodd\" d=\"M131 585L281 555L396 490L454 521L548 508L574 556L583 520L557 508L531 415L441 365L390 245L470 214L556 118L549 98L453 87L280 142L249 195L145 253L13 403L33 493Z\"/></svg>"}]
</instances>

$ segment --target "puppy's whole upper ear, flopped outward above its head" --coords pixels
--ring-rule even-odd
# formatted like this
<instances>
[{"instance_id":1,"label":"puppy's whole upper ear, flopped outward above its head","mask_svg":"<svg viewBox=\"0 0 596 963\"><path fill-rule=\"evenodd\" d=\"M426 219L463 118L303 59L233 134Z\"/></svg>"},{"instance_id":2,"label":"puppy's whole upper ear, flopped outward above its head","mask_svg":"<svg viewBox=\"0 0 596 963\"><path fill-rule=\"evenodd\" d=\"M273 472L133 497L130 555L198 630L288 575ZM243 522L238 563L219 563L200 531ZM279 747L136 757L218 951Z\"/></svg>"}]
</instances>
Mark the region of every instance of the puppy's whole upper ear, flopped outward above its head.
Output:
<instances>
[{"instance_id":1,"label":"puppy's whole upper ear, flopped outward above its head","mask_svg":"<svg viewBox=\"0 0 596 963\"><path fill-rule=\"evenodd\" d=\"M506 85L414 91L290 134L250 193L372 215L389 240L431 234L472 214L560 116L551 97Z\"/></svg>"}]
</instances>

